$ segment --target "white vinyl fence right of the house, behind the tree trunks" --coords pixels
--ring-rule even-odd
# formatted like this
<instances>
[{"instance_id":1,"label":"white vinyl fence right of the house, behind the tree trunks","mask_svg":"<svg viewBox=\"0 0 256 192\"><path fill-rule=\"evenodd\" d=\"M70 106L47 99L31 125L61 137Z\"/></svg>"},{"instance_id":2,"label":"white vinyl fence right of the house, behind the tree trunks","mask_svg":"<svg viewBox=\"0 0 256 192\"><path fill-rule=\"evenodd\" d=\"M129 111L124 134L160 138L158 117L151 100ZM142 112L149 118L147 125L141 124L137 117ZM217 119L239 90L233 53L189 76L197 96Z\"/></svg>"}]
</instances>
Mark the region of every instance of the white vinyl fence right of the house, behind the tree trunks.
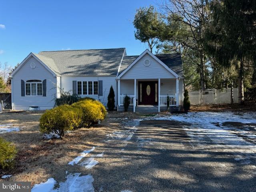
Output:
<instances>
[{"instance_id":1,"label":"white vinyl fence right of the house, behind the tree trunks","mask_svg":"<svg viewBox=\"0 0 256 192\"><path fill-rule=\"evenodd\" d=\"M225 104L231 102L231 89L207 89L189 91L189 101L192 105ZM238 88L234 88L234 103L238 103Z\"/></svg>"}]
</instances>

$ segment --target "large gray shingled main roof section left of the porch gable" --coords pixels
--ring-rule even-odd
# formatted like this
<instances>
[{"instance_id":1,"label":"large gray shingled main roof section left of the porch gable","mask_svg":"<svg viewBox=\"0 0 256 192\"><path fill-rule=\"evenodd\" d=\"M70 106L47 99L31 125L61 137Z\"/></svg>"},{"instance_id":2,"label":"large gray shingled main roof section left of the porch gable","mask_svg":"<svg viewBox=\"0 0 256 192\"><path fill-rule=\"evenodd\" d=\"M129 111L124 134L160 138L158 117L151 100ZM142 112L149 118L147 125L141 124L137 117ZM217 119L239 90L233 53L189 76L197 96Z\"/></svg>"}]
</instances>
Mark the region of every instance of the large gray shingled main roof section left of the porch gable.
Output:
<instances>
[{"instance_id":1,"label":"large gray shingled main roof section left of the porch gable","mask_svg":"<svg viewBox=\"0 0 256 192\"><path fill-rule=\"evenodd\" d=\"M53 70L58 69L59 74L79 75L116 75L125 48L97 49L97 50L69 50L69 51L42 51L46 65ZM39 56L39 57L40 57ZM46 59L46 58L50 59ZM39 58L40 59L40 58ZM40 60L41 60L40 59ZM54 61L54 64L52 63ZM57 72L57 71L56 71Z\"/></svg>"}]
</instances>

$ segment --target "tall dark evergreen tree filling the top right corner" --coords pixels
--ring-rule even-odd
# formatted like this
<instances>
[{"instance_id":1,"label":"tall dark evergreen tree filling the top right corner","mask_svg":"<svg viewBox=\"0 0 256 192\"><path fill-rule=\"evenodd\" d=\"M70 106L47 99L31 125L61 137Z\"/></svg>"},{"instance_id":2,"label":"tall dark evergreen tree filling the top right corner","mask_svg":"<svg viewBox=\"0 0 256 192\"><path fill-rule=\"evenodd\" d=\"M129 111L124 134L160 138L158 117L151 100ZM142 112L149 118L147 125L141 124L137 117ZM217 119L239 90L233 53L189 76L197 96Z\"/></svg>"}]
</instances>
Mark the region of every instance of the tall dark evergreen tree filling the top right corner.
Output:
<instances>
[{"instance_id":1,"label":"tall dark evergreen tree filling the top right corner","mask_svg":"<svg viewBox=\"0 0 256 192\"><path fill-rule=\"evenodd\" d=\"M238 73L238 101L244 102L244 75L248 64L256 66L255 0L213 0L204 43L208 54Z\"/></svg>"}]
</instances>

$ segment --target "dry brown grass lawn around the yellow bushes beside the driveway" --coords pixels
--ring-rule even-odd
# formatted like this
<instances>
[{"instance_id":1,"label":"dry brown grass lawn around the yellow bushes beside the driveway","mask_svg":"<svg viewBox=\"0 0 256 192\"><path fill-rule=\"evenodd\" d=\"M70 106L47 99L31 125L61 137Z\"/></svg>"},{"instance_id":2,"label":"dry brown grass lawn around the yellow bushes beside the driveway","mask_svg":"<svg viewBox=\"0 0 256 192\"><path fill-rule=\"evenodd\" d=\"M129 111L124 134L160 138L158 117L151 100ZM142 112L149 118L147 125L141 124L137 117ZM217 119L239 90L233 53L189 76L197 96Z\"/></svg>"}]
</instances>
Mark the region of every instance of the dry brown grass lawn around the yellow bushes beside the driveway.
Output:
<instances>
[{"instance_id":1,"label":"dry brown grass lawn around the yellow bushes beside the driveway","mask_svg":"<svg viewBox=\"0 0 256 192\"><path fill-rule=\"evenodd\" d=\"M38 128L38 120L42 113L4 112L0 114L0 124L13 124L20 127L19 132L0 135L13 142L18 149L16 167L12 171L0 170L0 176L12 174L9 181L32 181L32 184L46 181L50 177L64 180L66 170L70 169L68 162L92 146L98 146L100 149L106 134L110 134L120 126L116 120L106 118L99 125L80 128L66 134L63 140L43 140ZM127 115L112 112L108 116L116 118Z\"/></svg>"}]
</instances>

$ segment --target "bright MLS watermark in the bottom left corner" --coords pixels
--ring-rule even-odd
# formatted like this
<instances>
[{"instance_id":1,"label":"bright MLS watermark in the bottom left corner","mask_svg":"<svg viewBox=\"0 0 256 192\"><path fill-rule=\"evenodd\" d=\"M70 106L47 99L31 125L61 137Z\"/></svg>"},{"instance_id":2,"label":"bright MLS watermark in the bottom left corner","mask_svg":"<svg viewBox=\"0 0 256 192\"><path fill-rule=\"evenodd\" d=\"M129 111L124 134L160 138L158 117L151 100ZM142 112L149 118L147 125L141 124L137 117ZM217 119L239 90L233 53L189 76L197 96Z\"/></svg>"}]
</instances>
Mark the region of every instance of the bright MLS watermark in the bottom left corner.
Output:
<instances>
[{"instance_id":1,"label":"bright MLS watermark in the bottom left corner","mask_svg":"<svg viewBox=\"0 0 256 192\"><path fill-rule=\"evenodd\" d=\"M31 182L0 182L0 192L31 192Z\"/></svg>"}]
</instances>

